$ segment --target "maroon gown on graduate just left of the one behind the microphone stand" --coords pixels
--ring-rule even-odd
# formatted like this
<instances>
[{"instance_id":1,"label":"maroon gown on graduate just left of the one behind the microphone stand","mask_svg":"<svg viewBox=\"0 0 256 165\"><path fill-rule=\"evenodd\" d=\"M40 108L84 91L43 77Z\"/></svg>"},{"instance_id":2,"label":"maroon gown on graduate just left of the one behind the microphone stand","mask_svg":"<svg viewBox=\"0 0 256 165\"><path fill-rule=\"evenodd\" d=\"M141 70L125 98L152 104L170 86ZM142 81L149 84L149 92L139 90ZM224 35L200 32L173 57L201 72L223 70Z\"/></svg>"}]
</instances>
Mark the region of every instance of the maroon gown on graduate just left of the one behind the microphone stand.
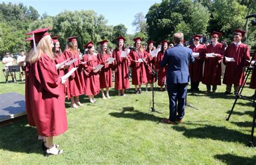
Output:
<instances>
[{"instance_id":1,"label":"maroon gown on graduate just left of the one behind the microphone stand","mask_svg":"<svg viewBox=\"0 0 256 165\"><path fill-rule=\"evenodd\" d=\"M146 51L140 52L136 50L143 59L147 60ZM141 85L147 83L147 73L144 62L134 62L139 60L139 56L135 51L130 52L130 61L132 67L132 84L133 85Z\"/></svg>"}]
</instances>

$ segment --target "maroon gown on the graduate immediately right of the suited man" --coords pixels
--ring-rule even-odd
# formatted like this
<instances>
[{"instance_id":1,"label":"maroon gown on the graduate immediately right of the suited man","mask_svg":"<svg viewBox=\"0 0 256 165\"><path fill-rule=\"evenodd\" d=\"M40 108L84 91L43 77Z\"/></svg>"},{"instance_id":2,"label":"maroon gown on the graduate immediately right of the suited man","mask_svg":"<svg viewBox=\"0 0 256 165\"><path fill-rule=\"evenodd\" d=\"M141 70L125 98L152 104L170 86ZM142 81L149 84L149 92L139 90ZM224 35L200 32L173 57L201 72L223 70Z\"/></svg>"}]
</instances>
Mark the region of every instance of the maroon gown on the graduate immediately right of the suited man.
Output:
<instances>
[{"instance_id":1,"label":"maroon gown on the graduate immediately right of the suited man","mask_svg":"<svg viewBox=\"0 0 256 165\"><path fill-rule=\"evenodd\" d=\"M194 53L199 53L199 58L194 59L194 63L190 63L188 69L190 71L191 82L200 82L203 80L203 64L205 59L206 46L199 44L198 47L191 45L190 48Z\"/></svg>"}]
</instances>

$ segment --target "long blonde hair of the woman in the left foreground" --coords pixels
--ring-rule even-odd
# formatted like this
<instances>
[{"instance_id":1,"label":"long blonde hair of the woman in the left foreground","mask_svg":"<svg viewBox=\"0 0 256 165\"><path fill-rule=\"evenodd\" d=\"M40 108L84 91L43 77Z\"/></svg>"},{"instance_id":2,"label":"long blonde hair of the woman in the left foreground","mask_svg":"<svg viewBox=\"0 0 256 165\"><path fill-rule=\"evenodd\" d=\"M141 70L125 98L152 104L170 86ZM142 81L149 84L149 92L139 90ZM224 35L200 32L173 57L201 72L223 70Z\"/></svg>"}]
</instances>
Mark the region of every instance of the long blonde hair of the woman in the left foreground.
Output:
<instances>
[{"instance_id":1,"label":"long blonde hair of the woman in the left foreground","mask_svg":"<svg viewBox=\"0 0 256 165\"><path fill-rule=\"evenodd\" d=\"M34 52L33 48L30 49L30 51L28 52L28 55L26 56L25 61L29 63L35 63L41 58L42 53L45 53L46 55L49 56L49 58L54 60L55 57L52 53L51 43L49 41L49 38L51 38L50 35L46 35L38 42L36 46L37 52Z\"/></svg>"}]
</instances>

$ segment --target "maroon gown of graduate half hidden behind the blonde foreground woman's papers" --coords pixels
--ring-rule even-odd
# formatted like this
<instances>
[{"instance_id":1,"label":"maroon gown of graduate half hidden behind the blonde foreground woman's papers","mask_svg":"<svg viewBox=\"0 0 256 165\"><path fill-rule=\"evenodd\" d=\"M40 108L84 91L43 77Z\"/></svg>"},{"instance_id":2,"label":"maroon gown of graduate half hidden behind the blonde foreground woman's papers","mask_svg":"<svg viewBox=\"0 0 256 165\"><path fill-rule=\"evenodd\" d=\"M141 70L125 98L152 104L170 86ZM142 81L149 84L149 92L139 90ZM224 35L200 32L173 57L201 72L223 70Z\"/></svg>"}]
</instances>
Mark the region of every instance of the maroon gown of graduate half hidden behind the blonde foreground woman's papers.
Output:
<instances>
[{"instance_id":1,"label":"maroon gown of graduate half hidden behind the blonde foreground woman's papers","mask_svg":"<svg viewBox=\"0 0 256 165\"><path fill-rule=\"evenodd\" d=\"M65 61L66 59L65 59L65 57L64 57L64 54L62 53L62 54L57 54L57 56L55 57L55 64L58 64L58 63L62 63L63 61ZM64 68L62 68L62 69L57 69L57 73L58 73L58 75L59 75L59 77L62 77L62 76L64 76L65 75L65 69ZM67 94L67 90L66 90L66 88L69 86L69 81L66 81L66 84L65 85L62 85L62 89L63 89L63 99L64 99L64 101L65 101L65 97L66 97L66 94ZM68 96L70 96L70 94L68 95Z\"/></svg>"}]
</instances>

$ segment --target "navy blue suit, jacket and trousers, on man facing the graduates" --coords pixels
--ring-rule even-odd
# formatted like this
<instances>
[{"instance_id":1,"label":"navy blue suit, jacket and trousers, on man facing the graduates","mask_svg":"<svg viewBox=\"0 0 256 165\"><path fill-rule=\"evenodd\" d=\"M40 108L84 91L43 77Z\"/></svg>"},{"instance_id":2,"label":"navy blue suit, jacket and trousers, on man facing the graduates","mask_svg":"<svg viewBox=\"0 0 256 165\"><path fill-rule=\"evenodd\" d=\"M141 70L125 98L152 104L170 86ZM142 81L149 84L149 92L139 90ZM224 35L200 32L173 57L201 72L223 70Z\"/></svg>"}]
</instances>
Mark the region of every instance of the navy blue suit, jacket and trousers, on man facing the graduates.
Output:
<instances>
[{"instance_id":1,"label":"navy blue suit, jacket and trousers, on man facing the graduates","mask_svg":"<svg viewBox=\"0 0 256 165\"><path fill-rule=\"evenodd\" d=\"M170 121L181 120L185 115L187 84L190 81L188 64L190 62L194 62L192 50L182 44L167 49L164 59L161 61L161 67L167 65L166 83L170 103Z\"/></svg>"}]
</instances>

